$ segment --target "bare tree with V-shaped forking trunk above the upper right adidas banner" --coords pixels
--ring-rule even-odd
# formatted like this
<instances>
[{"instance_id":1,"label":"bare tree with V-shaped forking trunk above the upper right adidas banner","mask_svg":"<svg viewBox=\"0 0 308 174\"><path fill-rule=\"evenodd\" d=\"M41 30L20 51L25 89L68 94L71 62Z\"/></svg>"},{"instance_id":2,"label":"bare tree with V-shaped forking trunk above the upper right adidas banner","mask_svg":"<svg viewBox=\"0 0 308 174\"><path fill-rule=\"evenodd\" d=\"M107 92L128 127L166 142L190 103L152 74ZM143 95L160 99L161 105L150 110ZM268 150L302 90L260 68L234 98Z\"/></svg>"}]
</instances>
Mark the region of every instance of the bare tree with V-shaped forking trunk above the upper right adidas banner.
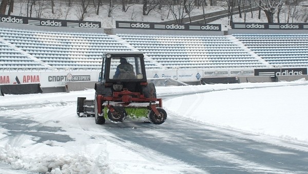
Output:
<instances>
[{"instance_id":1,"label":"bare tree with V-shaped forking trunk above the upper right adidas banner","mask_svg":"<svg viewBox=\"0 0 308 174\"><path fill-rule=\"evenodd\" d=\"M256 5L264 11L267 22L274 23L274 14L282 3L282 0L260 0L260 4L258 3L256 2Z\"/></svg>"}]
</instances>

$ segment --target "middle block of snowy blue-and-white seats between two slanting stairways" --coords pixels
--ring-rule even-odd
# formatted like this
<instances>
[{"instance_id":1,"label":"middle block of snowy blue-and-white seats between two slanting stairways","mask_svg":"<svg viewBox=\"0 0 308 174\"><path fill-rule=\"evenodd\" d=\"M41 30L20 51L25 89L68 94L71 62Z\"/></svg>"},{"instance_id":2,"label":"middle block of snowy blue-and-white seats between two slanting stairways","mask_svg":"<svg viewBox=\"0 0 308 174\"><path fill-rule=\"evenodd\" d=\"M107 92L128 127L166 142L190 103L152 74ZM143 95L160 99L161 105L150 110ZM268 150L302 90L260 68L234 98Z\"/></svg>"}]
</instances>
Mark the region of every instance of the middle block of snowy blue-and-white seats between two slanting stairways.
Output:
<instances>
[{"instance_id":1,"label":"middle block of snowy blue-and-white seats between two slanting stairways","mask_svg":"<svg viewBox=\"0 0 308 174\"><path fill-rule=\"evenodd\" d=\"M226 36L117 34L165 67L260 68L262 61Z\"/></svg>"}]
</instances>

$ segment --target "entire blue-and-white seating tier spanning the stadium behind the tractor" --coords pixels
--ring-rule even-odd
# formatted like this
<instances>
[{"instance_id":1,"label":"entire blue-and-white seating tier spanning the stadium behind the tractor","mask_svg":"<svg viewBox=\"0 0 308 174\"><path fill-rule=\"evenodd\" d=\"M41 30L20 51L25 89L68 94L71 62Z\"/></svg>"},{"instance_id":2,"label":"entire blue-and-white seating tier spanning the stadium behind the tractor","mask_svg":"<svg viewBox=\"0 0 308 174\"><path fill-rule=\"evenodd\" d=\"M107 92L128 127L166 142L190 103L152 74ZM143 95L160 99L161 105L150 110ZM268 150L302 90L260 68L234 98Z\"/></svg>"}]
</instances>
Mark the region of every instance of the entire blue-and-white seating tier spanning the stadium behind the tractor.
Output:
<instances>
[{"instance_id":1,"label":"entire blue-and-white seating tier spanning the stadium behind the tractor","mask_svg":"<svg viewBox=\"0 0 308 174\"><path fill-rule=\"evenodd\" d=\"M139 50L147 69L303 67L308 35L48 32L0 28L0 69L100 69L106 51Z\"/></svg>"}]
</instances>

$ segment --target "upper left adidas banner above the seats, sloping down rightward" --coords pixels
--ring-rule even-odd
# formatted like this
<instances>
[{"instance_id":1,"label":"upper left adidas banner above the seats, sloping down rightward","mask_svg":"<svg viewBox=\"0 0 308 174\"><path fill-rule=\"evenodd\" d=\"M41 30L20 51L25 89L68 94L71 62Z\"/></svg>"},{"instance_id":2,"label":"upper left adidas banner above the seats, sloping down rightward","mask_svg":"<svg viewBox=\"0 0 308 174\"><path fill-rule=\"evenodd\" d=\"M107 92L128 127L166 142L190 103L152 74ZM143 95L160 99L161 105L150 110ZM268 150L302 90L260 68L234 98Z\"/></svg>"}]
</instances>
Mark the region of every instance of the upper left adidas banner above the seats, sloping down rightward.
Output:
<instances>
[{"instance_id":1,"label":"upper left adidas banner above the seats, sloping down rightward","mask_svg":"<svg viewBox=\"0 0 308 174\"><path fill-rule=\"evenodd\" d=\"M80 28L101 28L100 21L80 21L80 20L60 20L60 19L43 19L23 16L9 16L0 14L0 22L29 24L49 27L80 27Z\"/></svg>"}]
</instances>

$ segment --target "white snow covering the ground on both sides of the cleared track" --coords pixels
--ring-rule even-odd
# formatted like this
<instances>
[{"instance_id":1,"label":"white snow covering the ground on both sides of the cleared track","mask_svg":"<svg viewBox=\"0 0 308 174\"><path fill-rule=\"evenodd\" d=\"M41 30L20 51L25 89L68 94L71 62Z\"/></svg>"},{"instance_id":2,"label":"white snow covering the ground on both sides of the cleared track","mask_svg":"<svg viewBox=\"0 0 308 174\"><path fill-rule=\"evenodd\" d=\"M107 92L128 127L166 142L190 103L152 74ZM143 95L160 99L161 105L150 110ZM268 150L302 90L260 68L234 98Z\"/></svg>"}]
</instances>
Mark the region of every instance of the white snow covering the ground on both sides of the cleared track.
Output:
<instances>
[{"instance_id":1,"label":"white snow covering the ground on both sides of the cleared track","mask_svg":"<svg viewBox=\"0 0 308 174\"><path fill-rule=\"evenodd\" d=\"M277 140L308 144L307 89L308 82L301 79L157 86L157 93L164 98L163 107L169 118L187 117L217 127L218 131L223 127L255 134L273 144ZM198 173L198 169L184 162L132 142L119 145L121 140L114 139L114 135L101 135L104 125L95 124L92 118L79 118L75 113L76 97L93 99L93 94L94 90L86 90L1 96L0 118L32 120L32 127L53 127L60 130L54 131L54 136L68 135L72 140L37 143L37 137L28 134L10 136L13 133L2 126L0 173L181 173L187 170Z\"/></svg>"}]
</instances>

